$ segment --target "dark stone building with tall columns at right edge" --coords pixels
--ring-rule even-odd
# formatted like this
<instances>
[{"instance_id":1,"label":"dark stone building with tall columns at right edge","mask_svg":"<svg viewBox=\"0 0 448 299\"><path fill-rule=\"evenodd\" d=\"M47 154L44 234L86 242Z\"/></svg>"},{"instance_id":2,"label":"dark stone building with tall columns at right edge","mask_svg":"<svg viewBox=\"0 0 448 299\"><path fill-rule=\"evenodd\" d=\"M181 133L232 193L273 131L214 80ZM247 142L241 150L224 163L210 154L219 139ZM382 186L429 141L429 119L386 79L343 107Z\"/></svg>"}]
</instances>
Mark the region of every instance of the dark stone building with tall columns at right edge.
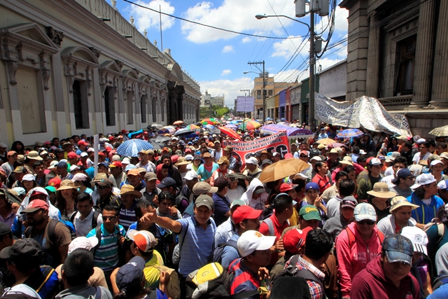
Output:
<instances>
[{"instance_id":1,"label":"dark stone building with tall columns at right edge","mask_svg":"<svg viewBox=\"0 0 448 299\"><path fill-rule=\"evenodd\" d=\"M448 1L343 0L349 10L346 99L405 113L413 134L447 125Z\"/></svg>"}]
</instances>

